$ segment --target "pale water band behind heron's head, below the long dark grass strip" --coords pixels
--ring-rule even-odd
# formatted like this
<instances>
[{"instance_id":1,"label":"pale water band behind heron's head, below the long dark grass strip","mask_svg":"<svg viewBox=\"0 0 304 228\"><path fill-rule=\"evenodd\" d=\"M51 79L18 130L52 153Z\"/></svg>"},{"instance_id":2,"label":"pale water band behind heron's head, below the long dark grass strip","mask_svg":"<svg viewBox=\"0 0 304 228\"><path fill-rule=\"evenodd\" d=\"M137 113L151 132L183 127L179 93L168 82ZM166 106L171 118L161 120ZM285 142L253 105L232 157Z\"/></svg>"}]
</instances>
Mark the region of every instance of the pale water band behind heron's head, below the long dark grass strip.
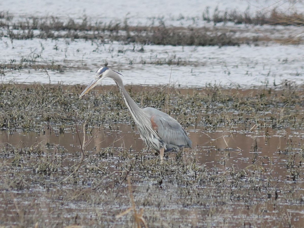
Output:
<instances>
[{"instance_id":1,"label":"pale water band behind heron's head, below the long dark grass strip","mask_svg":"<svg viewBox=\"0 0 304 228\"><path fill-rule=\"evenodd\" d=\"M226 87L274 86L291 80L302 83L304 75L304 46L193 47L193 46L142 46L123 45L119 42L92 43L78 40L14 40L2 38L0 62L21 58L35 60L32 65L52 64L65 66L64 72L44 69L8 70L4 82L88 84L99 67L104 66L124 75L125 84L166 85L176 83L181 87L204 87L208 83ZM7 43L7 46L5 46ZM55 49L57 47L58 49ZM133 50L134 49L134 50ZM120 53L121 52L121 53ZM249 54L250 53L250 54ZM36 58L36 56L40 56ZM36 59L35 59L36 58ZM170 66L168 61L184 62ZM161 65L155 65L159 61ZM111 79L102 82L113 85Z\"/></svg>"}]
</instances>

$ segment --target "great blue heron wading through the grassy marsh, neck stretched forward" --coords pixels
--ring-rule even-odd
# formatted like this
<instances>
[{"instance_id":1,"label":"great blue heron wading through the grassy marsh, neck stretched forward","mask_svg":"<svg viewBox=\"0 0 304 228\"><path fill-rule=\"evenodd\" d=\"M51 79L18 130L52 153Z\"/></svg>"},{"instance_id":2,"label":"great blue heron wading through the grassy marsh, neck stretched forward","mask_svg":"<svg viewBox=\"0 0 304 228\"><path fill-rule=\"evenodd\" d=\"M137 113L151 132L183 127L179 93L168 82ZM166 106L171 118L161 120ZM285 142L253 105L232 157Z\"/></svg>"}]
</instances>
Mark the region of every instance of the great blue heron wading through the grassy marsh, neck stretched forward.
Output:
<instances>
[{"instance_id":1,"label":"great blue heron wading through the grassy marsh, neck stretched forward","mask_svg":"<svg viewBox=\"0 0 304 228\"><path fill-rule=\"evenodd\" d=\"M119 75L122 74L108 67L99 68L95 73L94 79L80 94L79 98L95 87L101 80L112 78L116 82L119 92L137 125L140 137L150 148L160 153L161 159L163 159L164 152L172 149L191 148L192 142L181 124L168 114L155 108L146 107L141 109L138 107L127 93L123 86L123 80Z\"/></svg>"}]
</instances>

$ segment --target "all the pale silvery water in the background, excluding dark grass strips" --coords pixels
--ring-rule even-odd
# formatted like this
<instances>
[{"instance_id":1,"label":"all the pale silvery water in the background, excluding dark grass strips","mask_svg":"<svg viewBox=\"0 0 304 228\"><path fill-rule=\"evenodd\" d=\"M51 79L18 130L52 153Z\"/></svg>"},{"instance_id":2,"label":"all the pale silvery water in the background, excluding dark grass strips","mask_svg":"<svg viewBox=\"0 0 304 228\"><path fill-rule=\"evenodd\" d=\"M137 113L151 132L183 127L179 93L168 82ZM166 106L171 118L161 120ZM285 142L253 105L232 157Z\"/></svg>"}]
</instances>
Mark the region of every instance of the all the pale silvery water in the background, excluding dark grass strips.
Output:
<instances>
[{"instance_id":1,"label":"all the pale silvery water in the background, excluding dark grass strips","mask_svg":"<svg viewBox=\"0 0 304 228\"><path fill-rule=\"evenodd\" d=\"M87 14L93 24L128 18L130 26L151 26L164 21L166 26L181 28L206 26L215 31L232 33L236 39L246 41L252 37L264 37L268 42L242 44L240 46L160 46L141 45L109 40L85 41L84 39L10 39L7 28L1 28L5 36L0 42L0 64L17 64L17 69L6 69L1 75L3 82L87 84L99 67L106 63L124 75L125 84L165 85L176 83L181 87L204 87L217 83L226 87L275 86L285 80L302 83L304 68L301 44L303 26L254 26L232 22L226 24L207 23L202 12L210 6L210 14L219 10L236 10L250 13L285 9L288 12L304 7L302 1L182 1L165 7L163 2L140 2L125 4L75 2L70 1L31 2L16 0L10 4L0 3L0 8L9 11L16 22L33 17L58 16L60 19L83 20ZM168 3L169 4L169 3ZM94 7L92 7L94 5ZM134 7L137 5L137 7ZM149 7L143 5L149 5ZM173 5L171 7L171 5ZM33 7L36 6L36 7ZM20 7L22 12L20 12ZM96 10L99 9L99 10ZM182 10L181 10L182 9ZM123 13L125 12L125 13ZM210 16L211 16L210 15ZM2 18L0 20L5 20ZM12 22L13 23L13 22ZM18 31L14 31L18 32ZM34 30L39 34L39 30ZM58 31L67 33L69 31ZM90 31L88 31L89 33ZM92 31L91 31L92 32ZM123 33L122 31L120 31ZM80 32L81 33L81 32ZM280 45L299 39L299 45ZM297 42L295 42L297 43ZM18 64L28 63L30 67L19 68ZM172 63L173 66L172 66ZM45 70L45 66L59 66L57 70ZM106 80L104 84L114 84Z\"/></svg>"}]
</instances>

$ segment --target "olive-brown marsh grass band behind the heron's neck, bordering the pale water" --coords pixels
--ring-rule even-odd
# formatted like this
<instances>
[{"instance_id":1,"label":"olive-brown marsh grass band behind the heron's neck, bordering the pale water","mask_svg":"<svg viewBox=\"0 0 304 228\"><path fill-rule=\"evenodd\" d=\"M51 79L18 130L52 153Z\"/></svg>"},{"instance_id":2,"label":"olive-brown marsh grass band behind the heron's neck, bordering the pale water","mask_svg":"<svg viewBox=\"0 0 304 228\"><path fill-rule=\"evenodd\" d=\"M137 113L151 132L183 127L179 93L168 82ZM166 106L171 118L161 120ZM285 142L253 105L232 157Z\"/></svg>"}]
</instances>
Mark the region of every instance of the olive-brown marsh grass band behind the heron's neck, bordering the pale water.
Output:
<instances>
[{"instance_id":1,"label":"olive-brown marsh grass band behind the heron's neck, bordering the pale water","mask_svg":"<svg viewBox=\"0 0 304 228\"><path fill-rule=\"evenodd\" d=\"M80 85L35 84L22 87L1 84L0 128L43 133L45 128L64 132L68 126L74 131L76 113L79 122L88 121L86 131L89 132L105 123L134 124L116 88L102 90L98 94L93 91L78 99L83 89ZM294 84L286 83L281 90L265 88L248 92L223 90L216 85L208 85L204 90L189 90L186 94L174 87L168 94L168 86L143 91L130 87L128 90L142 107L160 110L166 107L168 113L185 127L201 125L214 130L235 124L247 130L253 126L257 129L304 127L303 110L300 108L303 106L302 87Z\"/></svg>"}]
</instances>

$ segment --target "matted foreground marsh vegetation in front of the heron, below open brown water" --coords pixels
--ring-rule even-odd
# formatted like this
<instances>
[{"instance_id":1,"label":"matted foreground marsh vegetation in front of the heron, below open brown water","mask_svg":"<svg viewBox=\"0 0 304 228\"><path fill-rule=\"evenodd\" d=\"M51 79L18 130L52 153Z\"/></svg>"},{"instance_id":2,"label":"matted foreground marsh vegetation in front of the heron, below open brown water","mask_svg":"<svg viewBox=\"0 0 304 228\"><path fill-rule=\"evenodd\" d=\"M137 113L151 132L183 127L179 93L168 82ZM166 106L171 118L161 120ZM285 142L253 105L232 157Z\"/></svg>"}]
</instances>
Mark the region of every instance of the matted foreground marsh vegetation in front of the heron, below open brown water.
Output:
<instances>
[{"instance_id":1,"label":"matted foreground marsh vegetation in front of the heron, below open brown water","mask_svg":"<svg viewBox=\"0 0 304 228\"><path fill-rule=\"evenodd\" d=\"M299 165L302 150L289 150L280 159L260 156L256 151L246 168L232 164L224 170L218 165L198 163L196 150L160 162L146 151L130 153L124 148L90 151L82 158L81 150L74 154L41 143L30 147L2 144L2 224L294 226L288 210L303 207L303 170ZM108 156L103 156L105 153ZM233 160L228 153L226 162ZM284 176L278 180L276 168L293 179L288 181ZM271 205L271 209L265 205ZM234 209L237 210L231 212ZM269 217L274 214L280 219Z\"/></svg>"}]
</instances>

